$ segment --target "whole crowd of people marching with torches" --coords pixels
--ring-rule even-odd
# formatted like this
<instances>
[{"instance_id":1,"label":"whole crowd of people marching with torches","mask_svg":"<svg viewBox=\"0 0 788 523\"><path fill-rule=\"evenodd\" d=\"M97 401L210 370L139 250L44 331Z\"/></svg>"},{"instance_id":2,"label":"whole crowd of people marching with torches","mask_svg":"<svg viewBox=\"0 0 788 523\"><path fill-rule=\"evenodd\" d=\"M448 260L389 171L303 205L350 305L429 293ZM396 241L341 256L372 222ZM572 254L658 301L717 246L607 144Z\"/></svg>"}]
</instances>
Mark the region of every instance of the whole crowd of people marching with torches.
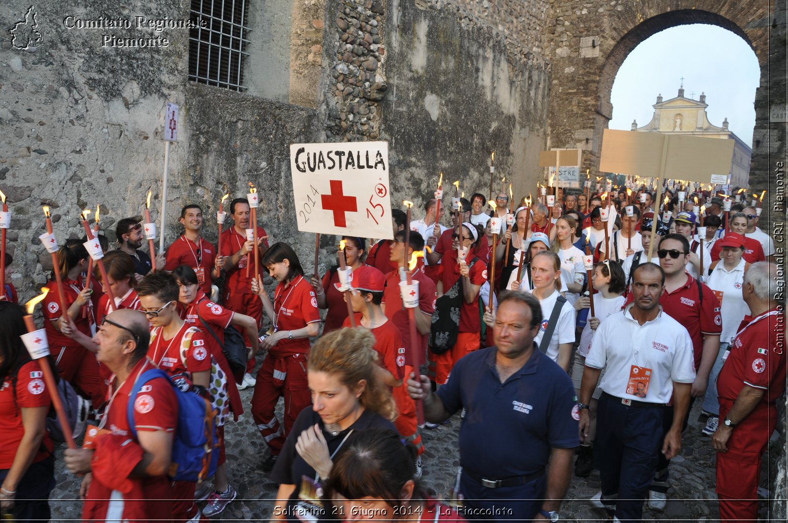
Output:
<instances>
[{"instance_id":1,"label":"whole crowd of people marching with torches","mask_svg":"<svg viewBox=\"0 0 788 523\"><path fill-rule=\"evenodd\" d=\"M83 477L83 519L221 514L237 495L225 425L247 409L268 448L259 466L279 485L273 520L559 521L572 476L598 469L589 502L639 521L644 503L665 508L702 399L720 517L754 521L786 384L774 243L746 202L667 191L660 206L630 192L559 189L549 207L524 198L516 210L501 192L489 212L476 193L448 206L446 226L430 199L410 223L392 210L393 239L344 236L322 276L262 227L247 239L246 198L229 205L221 250L193 204L153 259L139 217L117 221L113 250L99 236L106 272L86 238L67 240L42 310L50 365L84 406L83 447L64 458ZM10 277L0 294L0 508L48 521L61 387L25 350ZM180 392L211 413L210 477L176 479ZM444 503L419 482L422 432L456 413L460 466Z\"/></svg>"}]
</instances>

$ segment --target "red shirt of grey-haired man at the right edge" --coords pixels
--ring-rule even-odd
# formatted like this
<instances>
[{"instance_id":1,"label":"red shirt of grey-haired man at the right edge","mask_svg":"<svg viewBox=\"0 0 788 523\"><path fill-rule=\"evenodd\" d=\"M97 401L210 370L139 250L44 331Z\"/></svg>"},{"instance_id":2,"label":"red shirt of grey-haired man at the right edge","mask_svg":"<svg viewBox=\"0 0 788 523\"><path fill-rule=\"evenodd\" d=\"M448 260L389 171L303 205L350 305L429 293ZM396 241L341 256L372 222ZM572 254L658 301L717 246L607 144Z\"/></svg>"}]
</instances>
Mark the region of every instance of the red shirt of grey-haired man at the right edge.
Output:
<instances>
[{"instance_id":1,"label":"red shirt of grey-haired man at the right edge","mask_svg":"<svg viewBox=\"0 0 788 523\"><path fill-rule=\"evenodd\" d=\"M786 390L784 317L776 307L760 316L745 316L730 344L717 378L720 399L734 401L744 385L764 389L762 402L774 402Z\"/></svg>"}]
</instances>

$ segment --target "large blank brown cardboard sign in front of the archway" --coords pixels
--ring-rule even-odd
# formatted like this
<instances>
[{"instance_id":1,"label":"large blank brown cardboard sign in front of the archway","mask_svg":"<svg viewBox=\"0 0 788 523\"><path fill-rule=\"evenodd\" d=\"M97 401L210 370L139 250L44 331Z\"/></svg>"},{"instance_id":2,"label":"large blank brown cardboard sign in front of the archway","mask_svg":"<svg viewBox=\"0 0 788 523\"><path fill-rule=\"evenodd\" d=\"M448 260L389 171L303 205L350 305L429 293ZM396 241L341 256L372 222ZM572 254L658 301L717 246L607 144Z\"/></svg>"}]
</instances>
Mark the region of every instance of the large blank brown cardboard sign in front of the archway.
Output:
<instances>
[{"instance_id":1,"label":"large blank brown cardboard sign in front of the archway","mask_svg":"<svg viewBox=\"0 0 788 523\"><path fill-rule=\"evenodd\" d=\"M733 154L734 140L730 139L605 129L599 169L709 184L712 175L727 176Z\"/></svg>"}]
</instances>

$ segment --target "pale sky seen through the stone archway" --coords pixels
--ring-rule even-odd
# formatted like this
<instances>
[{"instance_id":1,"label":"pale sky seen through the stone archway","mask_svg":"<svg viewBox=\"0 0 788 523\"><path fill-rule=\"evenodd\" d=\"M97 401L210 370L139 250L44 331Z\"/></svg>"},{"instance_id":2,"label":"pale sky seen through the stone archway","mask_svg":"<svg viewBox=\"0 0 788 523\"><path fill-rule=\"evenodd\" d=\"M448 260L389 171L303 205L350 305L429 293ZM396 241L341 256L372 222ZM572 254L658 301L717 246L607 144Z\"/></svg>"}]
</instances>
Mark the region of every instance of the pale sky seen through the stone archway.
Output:
<instances>
[{"instance_id":1,"label":"pale sky seen through the stone archway","mask_svg":"<svg viewBox=\"0 0 788 523\"><path fill-rule=\"evenodd\" d=\"M705 92L708 121L722 127L727 117L730 130L752 147L758 60L741 37L716 25L680 25L635 47L615 76L610 128L628 131L633 120L638 127L648 124L656 95L678 96L682 76L686 98Z\"/></svg>"}]
</instances>

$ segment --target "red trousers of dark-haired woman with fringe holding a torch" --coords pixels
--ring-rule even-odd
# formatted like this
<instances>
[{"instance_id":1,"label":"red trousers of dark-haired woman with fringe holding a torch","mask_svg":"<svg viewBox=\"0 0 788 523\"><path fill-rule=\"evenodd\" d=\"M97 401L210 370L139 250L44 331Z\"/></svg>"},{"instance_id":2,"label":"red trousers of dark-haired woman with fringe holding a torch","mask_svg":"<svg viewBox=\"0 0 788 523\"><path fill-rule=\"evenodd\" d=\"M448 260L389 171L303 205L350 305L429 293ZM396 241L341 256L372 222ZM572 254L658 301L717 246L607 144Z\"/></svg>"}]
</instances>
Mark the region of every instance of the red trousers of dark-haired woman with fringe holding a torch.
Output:
<instances>
[{"instance_id":1,"label":"red trousers of dark-haired woman with fringe holding a torch","mask_svg":"<svg viewBox=\"0 0 788 523\"><path fill-rule=\"evenodd\" d=\"M281 378L280 368L286 376L275 381L273 369L277 361L277 376ZM284 431L274 414L280 396L284 398ZM255 394L251 397L251 415L271 454L279 454L296 417L311 404L312 396L307 383L307 354L277 356L268 353L257 373Z\"/></svg>"}]
</instances>

